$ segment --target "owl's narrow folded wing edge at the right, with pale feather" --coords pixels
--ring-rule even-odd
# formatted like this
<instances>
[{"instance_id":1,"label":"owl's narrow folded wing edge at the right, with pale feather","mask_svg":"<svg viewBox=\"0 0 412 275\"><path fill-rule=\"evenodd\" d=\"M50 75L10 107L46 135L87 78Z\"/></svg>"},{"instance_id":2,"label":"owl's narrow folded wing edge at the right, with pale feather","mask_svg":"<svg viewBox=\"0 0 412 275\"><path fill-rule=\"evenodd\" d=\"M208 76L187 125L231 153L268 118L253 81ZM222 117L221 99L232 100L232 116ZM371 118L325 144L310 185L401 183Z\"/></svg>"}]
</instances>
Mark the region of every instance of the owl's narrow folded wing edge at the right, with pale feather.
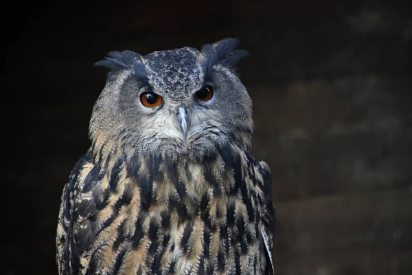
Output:
<instances>
[{"instance_id":1,"label":"owl's narrow folded wing edge at the right, with pale feather","mask_svg":"<svg viewBox=\"0 0 412 275\"><path fill-rule=\"evenodd\" d=\"M257 181L262 190L262 220L259 227L260 241L264 244L264 255L266 256L266 270L264 274L274 274L273 236L275 234L275 206L273 206L271 169L266 162L259 162L256 168L258 172Z\"/></svg>"}]
</instances>

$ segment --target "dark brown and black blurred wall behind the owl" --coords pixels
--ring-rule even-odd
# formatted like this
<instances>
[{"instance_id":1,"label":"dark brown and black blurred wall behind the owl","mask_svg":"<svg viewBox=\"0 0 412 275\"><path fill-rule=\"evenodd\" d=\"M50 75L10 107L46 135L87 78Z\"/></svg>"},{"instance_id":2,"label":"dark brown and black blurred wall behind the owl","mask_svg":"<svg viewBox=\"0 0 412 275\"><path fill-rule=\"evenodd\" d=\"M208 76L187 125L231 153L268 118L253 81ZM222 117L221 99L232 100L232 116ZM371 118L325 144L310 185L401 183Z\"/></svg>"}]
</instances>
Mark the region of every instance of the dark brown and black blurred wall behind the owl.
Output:
<instances>
[{"instance_id":1,"label":"dark brown and black blurred wall behind the owl","mask_svg":"<svg viewBox=\"0 0 412 275\"><path fill-rule=\"evenodd\" d=\"M35 2L35 1L34 1ZM254 154L273 172L277 274L412 274L412 2L4 6L0 274L57 274L60 194L107 52L238 37Z\"/></svg>"}]
</instances>

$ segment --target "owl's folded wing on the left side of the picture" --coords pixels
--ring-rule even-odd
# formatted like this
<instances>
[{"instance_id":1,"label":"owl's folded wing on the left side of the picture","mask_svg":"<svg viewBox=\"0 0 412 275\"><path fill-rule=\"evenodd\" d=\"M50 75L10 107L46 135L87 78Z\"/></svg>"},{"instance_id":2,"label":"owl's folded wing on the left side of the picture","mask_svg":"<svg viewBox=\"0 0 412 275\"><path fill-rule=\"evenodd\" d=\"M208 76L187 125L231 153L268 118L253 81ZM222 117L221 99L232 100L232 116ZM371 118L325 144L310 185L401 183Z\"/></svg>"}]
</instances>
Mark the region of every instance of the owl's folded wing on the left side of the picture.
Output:
<instances>
[{"instance_id":1,"label":"owl's folded wing on the left side of the picture","mask_svg":"<svg viewBox=\"0 0 412 275\"><path fill-rule=\"evenodd\" d=\"M60 275L78 274L82 252L95 239L93 219L104 204L102 179L88 152L79 159L63 189L56 236Z\"/></svg>"}]
</instances>

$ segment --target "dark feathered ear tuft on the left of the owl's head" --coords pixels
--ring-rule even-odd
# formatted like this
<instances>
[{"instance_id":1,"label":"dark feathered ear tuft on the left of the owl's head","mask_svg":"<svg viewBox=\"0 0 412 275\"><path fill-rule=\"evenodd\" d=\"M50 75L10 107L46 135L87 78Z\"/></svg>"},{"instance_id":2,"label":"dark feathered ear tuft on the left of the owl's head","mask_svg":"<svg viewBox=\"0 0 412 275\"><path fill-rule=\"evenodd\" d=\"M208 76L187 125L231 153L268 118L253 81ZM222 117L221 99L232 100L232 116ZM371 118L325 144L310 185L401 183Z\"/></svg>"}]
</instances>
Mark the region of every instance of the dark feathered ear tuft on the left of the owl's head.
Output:
<instances>
[{"instance_id":1,"label":"dark feathered ear tuft on the left of the owl's head","mask_svg":"<svg viewBox=\"0 0 412 275\"><path fill-rule=\"evenodd\" d=\"M141 64L141 55L129 50L123 52L109 52L107 55L109 57L105 57L106 59L96 62L95 66L106 67L111 69L112 72L119 69L127 69L132 65L135 65L137 71L141 71L141 67L144 67L144 65Z\"/></svg>"}]
</instances>

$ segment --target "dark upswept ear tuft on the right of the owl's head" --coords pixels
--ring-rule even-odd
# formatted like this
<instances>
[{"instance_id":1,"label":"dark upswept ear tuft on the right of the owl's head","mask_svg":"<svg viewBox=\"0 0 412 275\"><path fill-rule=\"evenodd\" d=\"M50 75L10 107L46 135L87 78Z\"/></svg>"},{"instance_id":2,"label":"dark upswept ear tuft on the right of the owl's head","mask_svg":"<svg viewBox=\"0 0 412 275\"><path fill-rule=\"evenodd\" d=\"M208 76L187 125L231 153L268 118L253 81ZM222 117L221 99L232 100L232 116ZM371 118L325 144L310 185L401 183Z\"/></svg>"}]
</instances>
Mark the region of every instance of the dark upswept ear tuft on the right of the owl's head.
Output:
<instances>
[{"instance_id":1,"label":"dark upswept ear tuft on the right of the owl's head","mask_svg":"<svg viewBox=\"0 0 412 275\"><path fill-rule=\"evenodd\" d=\"M235 51L238 45L238 39L223 39L211 45L203 45L202 53L206 57L206 67L221 64L233 68L241 58L249 54L244 50Z\"/></svg>"}]
</instances>

